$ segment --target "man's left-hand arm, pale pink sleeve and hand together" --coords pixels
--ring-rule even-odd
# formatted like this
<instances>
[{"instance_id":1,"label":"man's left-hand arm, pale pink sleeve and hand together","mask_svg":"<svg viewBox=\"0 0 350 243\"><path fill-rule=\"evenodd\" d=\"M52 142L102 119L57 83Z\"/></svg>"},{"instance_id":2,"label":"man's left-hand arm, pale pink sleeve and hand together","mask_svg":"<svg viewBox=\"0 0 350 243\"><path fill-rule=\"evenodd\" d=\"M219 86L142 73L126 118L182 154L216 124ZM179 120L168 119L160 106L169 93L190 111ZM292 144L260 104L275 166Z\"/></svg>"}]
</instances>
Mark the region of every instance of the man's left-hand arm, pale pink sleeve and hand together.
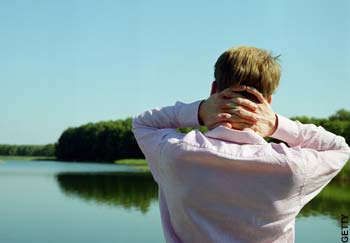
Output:
<instances>
[{"instance_id":1,"label":"man's left-hand arm, pale pink sleeve and hand together","mask_svg":"<svg viewBox=\"0 0 350 243\"><path fill-rule=\"evenodd\" d=\"M245 88L245 86L228 88L206 100L190 104L176 102L174 106L145 111L133 119L132 132L156 181L158 180L158 158L162 143L169 134L171 137L181 136L181 134L176 133L176 128L205 125L212 129L218 125L231 126L231 124L239 123L243 124L241 128L245 128L256 123L254 114L246 112L241 107L243 105L245 108L254 109L252 106L255 104L249 100L242 100L238 94L234 93ZM237 98L239 98L239 102ZM240 103L234 110L227 108L227 105L232 103L232 99ZM229 122L227 116L230 117ZM199 121L202 121L203 124L200 124Z\"/></svg>"}]
</instances>

